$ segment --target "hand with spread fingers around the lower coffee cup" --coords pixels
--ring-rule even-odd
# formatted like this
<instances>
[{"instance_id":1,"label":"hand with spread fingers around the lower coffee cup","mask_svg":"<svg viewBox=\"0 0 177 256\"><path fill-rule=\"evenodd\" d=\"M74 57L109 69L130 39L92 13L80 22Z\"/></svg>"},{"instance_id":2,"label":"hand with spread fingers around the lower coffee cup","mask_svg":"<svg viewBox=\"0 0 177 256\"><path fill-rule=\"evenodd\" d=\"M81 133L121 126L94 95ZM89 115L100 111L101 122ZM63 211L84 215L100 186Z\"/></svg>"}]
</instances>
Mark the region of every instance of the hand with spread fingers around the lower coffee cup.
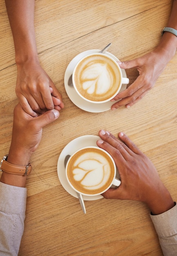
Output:
<instances>
[{"instance_id":1,"label":"hand with spread fingers around the lower coffee cup","mask_svg":"<svg viewBox=\"0 0 177 256\"><path fill-rule=\"evenodd\" d=\"M119 139L104 130L99 136L101 140L97 141L97 146L113 157L121 179L117 189L111 188L102 194L104 198L141 201L154 214L174 206L153 163L123 132L119 133Z\"/></svg>"}]
</instances>

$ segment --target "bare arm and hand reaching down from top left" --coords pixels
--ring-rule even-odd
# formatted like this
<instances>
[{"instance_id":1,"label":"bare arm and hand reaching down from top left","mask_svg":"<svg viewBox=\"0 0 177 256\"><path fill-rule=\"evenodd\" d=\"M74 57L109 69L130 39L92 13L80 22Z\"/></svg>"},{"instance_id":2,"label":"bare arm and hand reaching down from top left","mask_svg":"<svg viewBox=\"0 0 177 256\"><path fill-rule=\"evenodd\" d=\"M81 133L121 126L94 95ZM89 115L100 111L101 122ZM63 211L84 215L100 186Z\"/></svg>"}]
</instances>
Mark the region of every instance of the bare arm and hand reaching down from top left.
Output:
<instances>
[{"instance_id":1,"label":"bare arm and hand reaching down from top left","mask_svg":"<svg viewBox=\"0 0 177 256\"><path fill-rule=\"evenodd\" d=\"M25 112L36 117L64 108L62 95L40 66L35 42L34 0L5 0L17 64L16 94Z\"/></svg>"}]
</instances>

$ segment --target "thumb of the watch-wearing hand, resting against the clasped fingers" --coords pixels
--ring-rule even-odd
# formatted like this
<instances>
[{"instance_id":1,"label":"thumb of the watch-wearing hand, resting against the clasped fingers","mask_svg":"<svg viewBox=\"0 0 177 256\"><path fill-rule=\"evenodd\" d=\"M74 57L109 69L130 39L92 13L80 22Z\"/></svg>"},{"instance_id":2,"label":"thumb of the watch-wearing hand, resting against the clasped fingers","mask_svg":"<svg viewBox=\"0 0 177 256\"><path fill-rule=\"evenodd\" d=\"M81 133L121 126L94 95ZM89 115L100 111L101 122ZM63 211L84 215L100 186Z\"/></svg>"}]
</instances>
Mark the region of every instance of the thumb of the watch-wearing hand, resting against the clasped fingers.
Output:
<instances>
[{"instance_id":1,"label":"thumb of the watch-wearing hand, resting against the clasped fingers","mask_svg":"<svg viewBox=\"0 0 177 256\"><path fill-rule=\"evenodd\" d=\"M55 121L60 115L60 112L56 109L48 110L44 112L42 115L36 117L35 122L38 122L38 125L40 128L43 128L47 124L50 124L51 122Z\"/></svg>"}]
</instances>

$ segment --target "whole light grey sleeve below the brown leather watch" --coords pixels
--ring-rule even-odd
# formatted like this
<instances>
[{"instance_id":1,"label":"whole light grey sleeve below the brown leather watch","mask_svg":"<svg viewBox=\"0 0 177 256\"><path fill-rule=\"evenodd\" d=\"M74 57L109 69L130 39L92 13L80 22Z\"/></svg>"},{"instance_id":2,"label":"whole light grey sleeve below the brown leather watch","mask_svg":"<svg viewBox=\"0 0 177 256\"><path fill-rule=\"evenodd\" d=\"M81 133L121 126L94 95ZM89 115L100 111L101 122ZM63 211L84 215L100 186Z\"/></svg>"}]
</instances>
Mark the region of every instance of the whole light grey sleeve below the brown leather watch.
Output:
<instances>
[{"instance_id":1,"label":"whole light grey sleeve below the brown leather watch","mask_svg":"<svg viewBox=\"0 0 177 256\"><path fill-rule=\"evenodd\" d=\"M26 202L26 188L0 182L0 256L18 255Z\"/></svg>"}]
</instances>

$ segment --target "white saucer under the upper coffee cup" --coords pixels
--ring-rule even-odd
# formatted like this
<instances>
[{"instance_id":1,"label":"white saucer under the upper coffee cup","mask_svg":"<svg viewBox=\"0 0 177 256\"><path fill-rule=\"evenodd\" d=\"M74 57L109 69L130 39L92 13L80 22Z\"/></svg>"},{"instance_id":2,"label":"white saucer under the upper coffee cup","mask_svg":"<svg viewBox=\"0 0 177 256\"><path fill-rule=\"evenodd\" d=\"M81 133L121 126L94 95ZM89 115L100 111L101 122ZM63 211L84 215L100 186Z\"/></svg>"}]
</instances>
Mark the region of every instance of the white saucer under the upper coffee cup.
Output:
<instances>
[{"instance_id":1,"label":"white saucer under the upper coffee cup","mask_svg":"<svg viewBox=\"0 0 177 256\"><path fill-rule=\"evenodd\" d=\"M69 63L68 67L66 68L66 72L64 75L64 87L65 87L66 93L68 94L69 99L71 99L71 101L78 108L81 108L82 110L85 110L87 112L99 113L99 112L104 112L104 111L110 110L111 106L113 105L114 102L108 101L106 103L98 104L98 103L91 103L91 102L85 101L77 94L77 92L75 91L73 86L68 85L68 80L69 80L71 74L73 74L73 69L74 69L76 63L81 58L86 56L87 54L91 54L91 53L95 53L95 52L100 52L100 50L88 50L85 52L81 52L80 54L78 54L77 56L75 56L72 59L72 61ZM109 52L105 52L105 54L114 58L115 61L119 61L118 58L116 58L113 54L111 54ZM125 70L124 69L121 69L121 70L122 70L123 77L127 77ZM123 90L125 90L126 86L127 85L122 84L122 87L119 92L122 92Z\"/></svg>"}]
</instances>

